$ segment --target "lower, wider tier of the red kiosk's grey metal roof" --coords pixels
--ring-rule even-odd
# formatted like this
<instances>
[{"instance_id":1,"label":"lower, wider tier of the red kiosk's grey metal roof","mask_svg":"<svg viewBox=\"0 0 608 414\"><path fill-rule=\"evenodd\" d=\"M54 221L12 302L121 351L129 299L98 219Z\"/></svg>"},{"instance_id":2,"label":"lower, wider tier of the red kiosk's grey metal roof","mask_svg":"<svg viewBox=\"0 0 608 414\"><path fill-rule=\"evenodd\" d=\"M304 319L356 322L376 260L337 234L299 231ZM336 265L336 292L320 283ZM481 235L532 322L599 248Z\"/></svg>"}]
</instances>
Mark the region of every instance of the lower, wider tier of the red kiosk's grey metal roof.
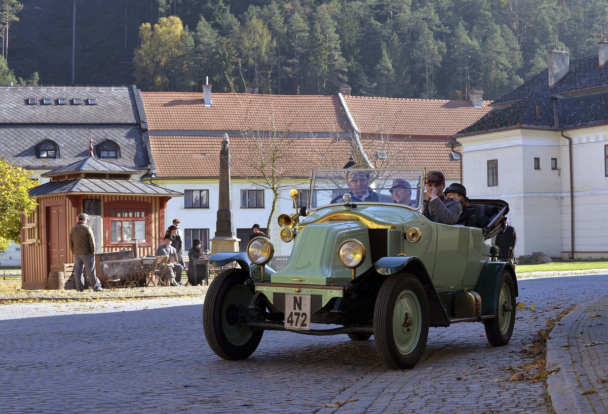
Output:
<instances>
[{"instance_id":1,"label":"lower, wider tier of the red kiosk's grey metal roof","mask_svg":"<svg viewBox=\"0 0 608 414\"><path fill-rule=\"evenodd\" d=\"M29 194L40 195L58 194L130 194L130 195L170 195L175 197L183 195L151 183L138 180L111 179L111 178L75 178L48 182L30 189Z\"/></svg>"}]
</instances>

